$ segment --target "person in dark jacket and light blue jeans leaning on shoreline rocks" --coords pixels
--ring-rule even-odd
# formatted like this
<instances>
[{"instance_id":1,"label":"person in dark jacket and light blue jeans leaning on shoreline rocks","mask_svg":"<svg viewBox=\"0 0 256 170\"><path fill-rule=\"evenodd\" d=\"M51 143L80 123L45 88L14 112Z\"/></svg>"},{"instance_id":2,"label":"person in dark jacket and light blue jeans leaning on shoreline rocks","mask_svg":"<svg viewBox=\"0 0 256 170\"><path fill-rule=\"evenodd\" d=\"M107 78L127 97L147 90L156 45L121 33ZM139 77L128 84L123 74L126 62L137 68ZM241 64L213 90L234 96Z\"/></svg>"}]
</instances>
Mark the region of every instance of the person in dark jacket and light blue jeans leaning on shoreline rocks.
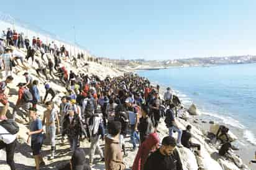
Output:
<instances>
[{"instance_id":1,"label":"person in dark jacket and light blue jeans leaning on shoreline rocks","mask_svg":"<svg viewBox=\"0 0 256 170\"><path fill-rule=\"evenodd\" d=\"M167 128L169 129L170 136L173 135L173 130L175 130L175 132L178 132L177 146L181 146L182 130L178 128L178 125L175 122L175 115L173 112L174 107L175 105L171 104L170 108L166 111L165 123L167 125Z\"/></svg>"}]
</instances>

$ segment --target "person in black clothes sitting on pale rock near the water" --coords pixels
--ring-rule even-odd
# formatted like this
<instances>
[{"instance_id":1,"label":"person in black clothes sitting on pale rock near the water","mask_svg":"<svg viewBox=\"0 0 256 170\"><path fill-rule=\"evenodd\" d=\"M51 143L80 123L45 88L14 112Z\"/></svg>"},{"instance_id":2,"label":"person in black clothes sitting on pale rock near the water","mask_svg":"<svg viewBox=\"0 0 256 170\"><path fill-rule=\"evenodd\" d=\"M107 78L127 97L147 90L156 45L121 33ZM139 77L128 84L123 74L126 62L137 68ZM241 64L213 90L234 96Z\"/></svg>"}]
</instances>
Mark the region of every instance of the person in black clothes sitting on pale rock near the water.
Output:
<instances>
[{"instance_id":1,"label":"person in black clothes sitting on pale rock near the water","mask_svg":"<svg viewBox=\"0 0 256 170\"><path fill-rule=\"evenodd\" d=\"M191 142L191 125L186 126L182 131L181 144L186 148L198 148L198 155L201 156L201 145Z\"/></svg>"}]
</instances>

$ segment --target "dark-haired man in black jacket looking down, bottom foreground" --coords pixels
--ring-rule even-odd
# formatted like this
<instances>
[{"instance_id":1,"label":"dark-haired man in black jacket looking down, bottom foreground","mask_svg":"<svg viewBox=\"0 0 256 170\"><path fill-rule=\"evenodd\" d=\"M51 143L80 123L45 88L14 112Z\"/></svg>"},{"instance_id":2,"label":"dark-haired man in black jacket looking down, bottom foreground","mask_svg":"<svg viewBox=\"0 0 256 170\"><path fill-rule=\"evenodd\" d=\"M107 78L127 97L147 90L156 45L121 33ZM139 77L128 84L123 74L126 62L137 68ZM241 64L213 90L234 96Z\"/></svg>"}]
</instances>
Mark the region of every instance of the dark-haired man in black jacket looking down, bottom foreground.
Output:
<instances>
[{"instance_id":1,"label":"dark-haired man in black jacket looking down, bottom foreground","mask_svg":"<svg viewBox=\"0 0 256 170\"><path fill-rule=\"evenodd\" d=\"M175 146L175 138L171 136L163 138L161 148L149 156L144 170L183 170L180 156L175 150Z\"/></svg>"}]
</instances>

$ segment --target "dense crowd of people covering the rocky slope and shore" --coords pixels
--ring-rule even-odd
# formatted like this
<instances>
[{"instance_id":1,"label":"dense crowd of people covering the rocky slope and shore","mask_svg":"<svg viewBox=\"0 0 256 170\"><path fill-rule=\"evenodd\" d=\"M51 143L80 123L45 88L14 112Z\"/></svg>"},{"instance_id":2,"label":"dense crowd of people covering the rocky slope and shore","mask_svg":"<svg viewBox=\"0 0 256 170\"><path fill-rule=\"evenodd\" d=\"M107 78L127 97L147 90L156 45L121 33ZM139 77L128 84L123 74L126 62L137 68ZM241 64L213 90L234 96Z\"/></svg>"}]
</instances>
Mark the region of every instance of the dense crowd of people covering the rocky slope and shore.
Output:
<instances>
[{"instance_id":1,"label":"dense crowd of people covering the rocky slope and shore","mask_svg":"<svg viewBox=\"0 0 256 170\"><path fill-rule=\"evenodd\" d=\"M1 45L2 42L5 45ZM126 169L128 167L124 162L124 156L127 156L128 137L132 144L131 149L137 150L132 170L183 169L176 146L196 148L196 154L201 155L201 146L191 142L191 126L188 125L186 130L181 130L175 122L179 116L177 113L182 111L183 107L169 87L164 99L160 99L160 86L152 86L148 79L137 74L126 73L115 78L107 76L105 79L99 79L94 74L76 74L61 65L65 56L69 55L65 47L58 50L52 43L43 44L40 38L34 38L30 46L29 40L24 35L17 34L15 30L8 29L2 42L0 40L0 53L2 69L6 74L4 81L0 83L0 102L4 106L0 114L0 148L6 148L7 164L12 170L16 169L14 151L19 128L15 120L21 108L25 111L22 113L22 123L30 125L27 143L31 146L37 170L47 166L41 152L45 140L50 141L51 146L48 158L55 159L57 136L61 137L62 144L66 142L66 138L68 139L72 153L70 163L60 169L91 169L90 167L97 163L94 159L96 151L101 158L99 162L104 162L107 170ZM26 48L27 55L17 55L17 48ZM42 56L35 57L38 50ZM51 55L54 57L54 63ZM24 69L26 83L17 84L18 99L12 117L7 118L9 102L6 89L14 79L12 67L15 67L15 63L18 63L16 60L20 59L24 68L27 68L27 61L24 59L29 60L30 57L32 62L35 61L38 65L35 70L39 78L43 79L45 95L42 97L40 94L39 80L33 79L29 70ZM84 57L80 54L77 58L82 62L81 58ZM74 65L78 64L77 58ZM58 83L66 87L66 94L61 96L60 104L56 104L54 100L58 96L58 91L48 83L49 75L52 77L50 81L57 82L58 79ZM46 108L42 120L37 110L38 104ZM29 119L26 119L27 117ZM169 130L169 135L162 141L158 135L161 119ZM177 140L173 138L173 131L178 132ZM85 139L90 142L87 153L89 164L86 163L81 143ZM101 140L105 143L104 151L99 145Z\"/></svg>"}]
</instances>

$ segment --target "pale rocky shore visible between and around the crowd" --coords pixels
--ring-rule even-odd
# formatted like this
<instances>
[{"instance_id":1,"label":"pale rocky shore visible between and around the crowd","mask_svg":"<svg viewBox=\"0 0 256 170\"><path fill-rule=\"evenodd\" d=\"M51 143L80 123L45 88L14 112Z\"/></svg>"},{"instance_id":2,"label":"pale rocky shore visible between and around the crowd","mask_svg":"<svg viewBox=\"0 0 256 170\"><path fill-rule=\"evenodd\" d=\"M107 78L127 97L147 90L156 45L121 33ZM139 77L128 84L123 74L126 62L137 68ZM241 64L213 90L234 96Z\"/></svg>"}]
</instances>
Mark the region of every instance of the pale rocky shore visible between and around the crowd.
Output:
<instances>
[{"instance_id":1,"label":"pale rocky shore visible between and around the crowd","mask_svg":"<svg viewBox=\"0 0 256 170\"><path fill-rule=\"evenodd\" d=\"M68 70L72 70L75 73L78 72L86 72L85 68L79 67L76 69L73 65L71 65L70 61L63 61L63 65L68 68ZM99 78L103 79L107 75L113 77L113 76L119 76L123 74L123 71L120 71L120 69L116 68L109 68L107 66L99 65L98 63L88 62L89 63L89 74L97 74ZM14 71L14 82L9 85L9 91L10 91L10 109L9 112L12 112L12 109L14 107L14 103L17 100L17 87L16 85L20 82L25 82L25 78L22 76L24 73L24 70L21 68L15 68ZM43 79L39 78L37 76L37 73L35 72L35 69L32 65L30 65L30 69L28 70L30 73L32 73L32 76L34 79L39 79L39 90L40 94L44 94L44 86L45 83ZM60 96L63 96L65 92L65 87L58 84L57 81L51 81L51 86L56 89L59 94L57 97L55 97L55 107L60 104ZM45 108L43 105L38 105L38 110L40 116L42 116L43 111ZM8 115L7 115L8 116ZM198 127L195 126L196 123L194 123L194 117L188 116L188 119L191 121L186 121L183 119L177 119L177 123L179 128L185 130L186 125L190 124L192 126L192 134L193 134L193 142L199 143L201 145L201 156L196 156L193 151L182 147L178 148L178 152L180 153L180 158L183 163L183 168L186 170L196 170L196 169L213 169L213 170L237 170L237 169L249 169L246 165L242 163L240 159L237 159L234 163L231 159L221 158L217 155L217 148L216 146L209 143L207 134L205 132L202 132ZM21 121L22 117L18 116L17 121ZM34 169L34 158L32 158L30 146L25 143L27 140L26 132L28 130L27 125L23 125L19 123L20 131L18 134L18 141L19 144L17 145L16 154L15 154L15 162L17 164L17 170L24 170L24 169ZM161 121L159 125L159 131L160 131L160 138L162 139L163 136L168 135L168 129L165 126L165 123L163 120ZM176 134L175 134L176 137ZM134 161L135 155L137 153L137 150L132 151L132 144L128 141L130 138L126 138L127 141L127 154L128 156L124 158L124 161L126 161L127 169L129 169L132 166L132 163ZM42 169L57 169L60 166L62 166L65 163L68 163L68 159L70 159L70 152L68 150L68 145L60 145L60 136L57 137L57 156L56 159L48 160L47 157L45 157L45 163L47 166ZM103 146L103 141L101 142L101 146ZM81 142L81 148L85 150L86 153L86 159L89 158L89 142L88 141L82 141ZM43 145L43 155L49 154L50 146ZM4 150L0 150L0 169L1 170L7 170L9 169L9 166L6 165L6 153ZM97 163L94 164L93 169L104 169L104 163Z\"/></svg>"}]
</instances>

